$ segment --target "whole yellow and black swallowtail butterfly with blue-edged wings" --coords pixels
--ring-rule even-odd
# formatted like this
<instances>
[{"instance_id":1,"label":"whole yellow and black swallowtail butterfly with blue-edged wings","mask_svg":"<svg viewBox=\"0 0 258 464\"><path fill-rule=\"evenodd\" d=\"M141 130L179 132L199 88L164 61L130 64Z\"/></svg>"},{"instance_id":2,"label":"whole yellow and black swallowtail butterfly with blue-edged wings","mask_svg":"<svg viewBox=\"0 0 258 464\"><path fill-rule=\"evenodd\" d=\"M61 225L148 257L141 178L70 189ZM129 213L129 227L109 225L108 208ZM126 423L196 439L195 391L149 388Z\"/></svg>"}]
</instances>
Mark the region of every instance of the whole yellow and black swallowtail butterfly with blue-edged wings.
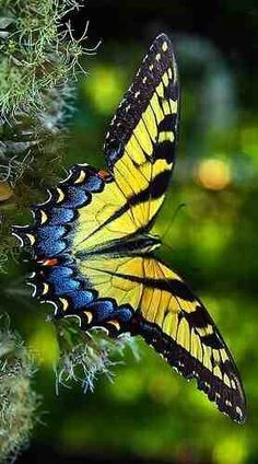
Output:
<instances>
[{"instance_id":1,"label":"whole yellow and black swallowtail butterfly with blue-edged wings","mask_svg":"<svg viewBox=\"0 0 258 464\"><path fill-rule=\"evenodd\" d=\"M74 165L34 225L14 227L32 248L34 295L82 330L140 335L222 413L244 422L245 394L233 358L201 301L157 259L151 234L175 163L179 85L173 45L159 35L126 92L104 151L107 170Z\"/></svg>"}]
</instances>

